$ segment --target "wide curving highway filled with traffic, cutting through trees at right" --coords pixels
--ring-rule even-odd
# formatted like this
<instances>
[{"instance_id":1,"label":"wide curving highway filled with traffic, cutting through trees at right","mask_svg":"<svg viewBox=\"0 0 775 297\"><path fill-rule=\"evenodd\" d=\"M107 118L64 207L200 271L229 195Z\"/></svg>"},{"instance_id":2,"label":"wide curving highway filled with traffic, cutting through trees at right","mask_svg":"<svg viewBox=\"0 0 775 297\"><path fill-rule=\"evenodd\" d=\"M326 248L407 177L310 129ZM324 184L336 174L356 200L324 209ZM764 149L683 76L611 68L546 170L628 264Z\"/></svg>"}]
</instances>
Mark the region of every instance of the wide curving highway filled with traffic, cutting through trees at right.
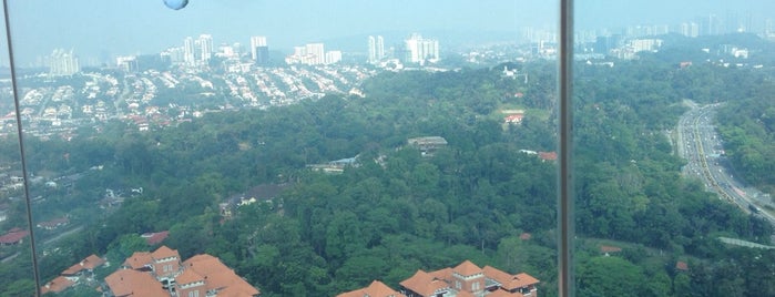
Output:
<instances>
[{"instance_id":1,"label":"wide curving highway filled with traffic, cutting through trees at right","mask_svg":"<svg viewBox=\"0 0 775 297\"><path fill-rule=\"evenodd\" d=\"M713 125L713 116L721 103L697 105L689 103L690 111L679 120L676 143L679 155L687 163L683 174L697 176L705 187L718 197L737 205L743 212L754 213L775 225L775 216L767 208L775 208L772 198L761 191L746 186L730 171L723 140Z\"/></svg>"}]
</instances>

